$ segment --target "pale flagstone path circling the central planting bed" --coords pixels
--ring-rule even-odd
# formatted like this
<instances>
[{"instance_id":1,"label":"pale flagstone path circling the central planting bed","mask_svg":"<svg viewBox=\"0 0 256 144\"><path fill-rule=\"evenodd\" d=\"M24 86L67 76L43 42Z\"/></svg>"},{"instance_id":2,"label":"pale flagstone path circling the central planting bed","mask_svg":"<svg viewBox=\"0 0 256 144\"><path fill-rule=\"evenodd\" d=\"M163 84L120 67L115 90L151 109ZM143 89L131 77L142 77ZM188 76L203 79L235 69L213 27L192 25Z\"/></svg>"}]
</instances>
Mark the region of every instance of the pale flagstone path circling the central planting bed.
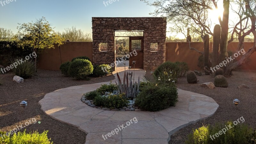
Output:
<instances>
[{"instance_id":1,"label":"pale flagstone path circling the central planting bed","mask_svg":"<svg viewBox=\"0 0 256 144\"><path fill-rule=\"evenodd\" d=\"M116 71L121 78L124 77L121 67ZM138 76L141 76L142 80L144 75L144 70L135 70L135 80L138 80ZM116 80L113 80L113 83ZM212 116L219 107L210 97L180 89L176 106L159 112L107 111L89 107L80 100L83 93L109 83L60 89L46 94L39 103L48 116L86 132L86 144L167 144L171 134L188 124ZM117 134L107 136L108 139L105 137L104 140L102 135L118 128L120 131Z\"/></svg>"}]
</instances>

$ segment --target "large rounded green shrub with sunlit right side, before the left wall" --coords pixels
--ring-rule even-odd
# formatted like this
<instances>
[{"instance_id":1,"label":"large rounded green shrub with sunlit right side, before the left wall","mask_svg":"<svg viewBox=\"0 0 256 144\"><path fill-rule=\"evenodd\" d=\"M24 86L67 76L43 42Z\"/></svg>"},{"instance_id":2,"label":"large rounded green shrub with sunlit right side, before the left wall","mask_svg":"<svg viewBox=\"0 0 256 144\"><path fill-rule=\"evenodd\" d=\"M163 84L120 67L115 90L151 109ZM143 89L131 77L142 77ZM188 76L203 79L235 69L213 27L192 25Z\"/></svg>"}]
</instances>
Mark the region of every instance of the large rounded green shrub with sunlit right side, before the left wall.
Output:
<instances>
[{"instance_id":1,"label":"large rounded green shrub with sunlit right side, before the left wall","mask_svg":"<svg viewBox=\"0 0 256 144\"><path fill-rule=\"evenodd\" d=\"M91 61L77 59L70 63L68 68L68 75L76 79L86 79L88 75L92 74L93 66Z\"/></svg>"}]
</instances>

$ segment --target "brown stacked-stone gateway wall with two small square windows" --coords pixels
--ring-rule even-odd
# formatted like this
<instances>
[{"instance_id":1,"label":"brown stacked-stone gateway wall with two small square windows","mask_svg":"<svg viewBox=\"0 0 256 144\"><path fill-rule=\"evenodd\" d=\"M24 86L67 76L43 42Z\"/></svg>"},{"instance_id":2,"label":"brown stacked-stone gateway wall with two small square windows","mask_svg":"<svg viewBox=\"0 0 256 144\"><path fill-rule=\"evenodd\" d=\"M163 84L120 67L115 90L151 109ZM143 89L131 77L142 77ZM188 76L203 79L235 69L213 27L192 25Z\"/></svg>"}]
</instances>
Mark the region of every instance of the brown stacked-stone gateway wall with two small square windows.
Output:
<instances>
[{"instance_id":1,"label":"brown stacked-stone gateway wall with two small square windows","mask_svg":"<svg viewBox=\"0 0 256 144\"><path fill-rule=\"evenodd\" d=\"M165 17L92 17L93 64L115 63L115 30L144 30L143 69L155 69L166 58L166 24ZM107 51L99 50L100 43L108 43ZM150 51L150 43L158 44L157 52Z\"/></svg>"}]
</instances>

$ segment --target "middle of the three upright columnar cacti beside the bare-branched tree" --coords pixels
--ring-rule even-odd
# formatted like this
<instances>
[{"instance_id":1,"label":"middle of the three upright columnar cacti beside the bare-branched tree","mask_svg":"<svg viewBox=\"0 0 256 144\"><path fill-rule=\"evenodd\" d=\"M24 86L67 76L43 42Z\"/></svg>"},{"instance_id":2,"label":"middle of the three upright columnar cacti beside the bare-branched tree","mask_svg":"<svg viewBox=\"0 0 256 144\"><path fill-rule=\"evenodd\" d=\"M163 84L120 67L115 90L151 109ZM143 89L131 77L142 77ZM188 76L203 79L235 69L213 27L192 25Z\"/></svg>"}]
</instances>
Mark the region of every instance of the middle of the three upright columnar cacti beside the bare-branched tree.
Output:
<instances>
[{"instance_id":1,"label":"middle of the three upright columnar cacti beside the bare-branched tree","mask_svg":"<svg viewBox=\"0 0 256 144\"><path fill-rule=\"evenodd\" d=\"M213 30L213 44L212 44L212 68L218 65L219 47L220 47L220 25L215 25ZM212 76L214 77L213 71Z\"/></svg>"}]
</instances>

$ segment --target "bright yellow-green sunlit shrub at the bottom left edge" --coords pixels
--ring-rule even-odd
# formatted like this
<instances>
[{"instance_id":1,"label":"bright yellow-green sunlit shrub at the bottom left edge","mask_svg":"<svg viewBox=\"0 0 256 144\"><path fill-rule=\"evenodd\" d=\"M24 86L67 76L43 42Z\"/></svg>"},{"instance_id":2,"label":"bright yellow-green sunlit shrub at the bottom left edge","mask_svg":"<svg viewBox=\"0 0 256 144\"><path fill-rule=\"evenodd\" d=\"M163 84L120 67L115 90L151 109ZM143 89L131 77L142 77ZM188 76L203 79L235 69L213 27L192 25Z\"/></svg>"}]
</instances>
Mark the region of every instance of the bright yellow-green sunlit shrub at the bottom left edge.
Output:
<instances>
[{"instance_id":1,"label":"bright yellow-green sunlit shrub at the bottom left edge","mask_svg":"<svg viewBox=\"0 0 256 144\"><path fill-rule=\"evenodd\" d=\"M52 144L51 139L47 137L48 131L39 134L37 131L33 133L18 132L10 138L11 144Z\"/></svg>"}]
</instances>

